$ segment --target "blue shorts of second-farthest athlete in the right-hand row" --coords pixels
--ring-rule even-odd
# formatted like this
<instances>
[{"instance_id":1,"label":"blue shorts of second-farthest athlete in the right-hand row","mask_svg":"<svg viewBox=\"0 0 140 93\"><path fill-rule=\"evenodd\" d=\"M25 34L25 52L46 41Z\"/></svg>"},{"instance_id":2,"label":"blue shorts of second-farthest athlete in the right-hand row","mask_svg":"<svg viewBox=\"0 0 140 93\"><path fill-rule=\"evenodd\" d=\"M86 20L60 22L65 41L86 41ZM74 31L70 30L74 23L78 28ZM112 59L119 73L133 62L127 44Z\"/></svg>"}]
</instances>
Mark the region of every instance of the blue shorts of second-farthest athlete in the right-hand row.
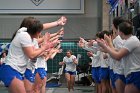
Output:
<instances>
[{"instance_id":1,"label":"blue shorts of second-farthest athlete in the right-hand row","mask_svg":"<svg viewBox=\"0 0 140 93\"><path fill-rule=\"evenodd\" d=\"M109 80L109 68L100 68L100 81Z\"/></svg>"}]
</instances>

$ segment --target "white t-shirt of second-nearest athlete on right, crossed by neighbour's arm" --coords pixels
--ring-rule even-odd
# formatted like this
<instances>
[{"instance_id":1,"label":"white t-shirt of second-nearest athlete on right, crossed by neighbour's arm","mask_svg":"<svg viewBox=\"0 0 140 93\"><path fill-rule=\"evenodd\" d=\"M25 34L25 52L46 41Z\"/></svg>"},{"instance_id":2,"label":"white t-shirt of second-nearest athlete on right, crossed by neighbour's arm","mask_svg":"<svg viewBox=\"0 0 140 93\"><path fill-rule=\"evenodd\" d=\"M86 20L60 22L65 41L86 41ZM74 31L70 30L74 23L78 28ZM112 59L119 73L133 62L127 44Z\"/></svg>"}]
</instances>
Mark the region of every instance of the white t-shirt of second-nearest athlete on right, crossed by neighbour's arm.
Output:
<instances>
[{"instance_id":1,"label":"white t-shirt of second-nearest athlete on right, crossed by neighbour's arm","mask_svg":"<svg viewBox=\"0 0 140 93\"><path fill-rule=\"evenodd\" d=\"M113 45L118 50L122 48L123 43L124 40L119 35L113 40ZM120 61L113 59L113 71L114 73L124 75L123 58Z\"/></svg>"}]
</instances>

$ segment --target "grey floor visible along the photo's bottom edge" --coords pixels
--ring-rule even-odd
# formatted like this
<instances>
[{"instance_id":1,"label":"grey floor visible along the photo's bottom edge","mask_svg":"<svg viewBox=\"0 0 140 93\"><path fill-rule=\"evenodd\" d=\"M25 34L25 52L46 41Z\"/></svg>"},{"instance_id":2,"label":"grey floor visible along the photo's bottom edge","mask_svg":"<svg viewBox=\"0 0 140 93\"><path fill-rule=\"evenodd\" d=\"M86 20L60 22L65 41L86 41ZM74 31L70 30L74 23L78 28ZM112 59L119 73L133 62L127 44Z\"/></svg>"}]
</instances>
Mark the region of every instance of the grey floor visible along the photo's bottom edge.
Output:
<instances>
[{"instance_id":1,"label":"grey floor visible along the photo's bottom edge","mask_svg":"<svg viewBox=\"0 0 140 93\"><path fill-rule=\"evenodd\" d=\"M0 93L8 93L7 89L0 85ZM67 88L47 88L46 93L68 93ZM95 88L90 86L76 86L74 87L74 91L70 93L95 93Z\"/></svg>"}]
</instances>

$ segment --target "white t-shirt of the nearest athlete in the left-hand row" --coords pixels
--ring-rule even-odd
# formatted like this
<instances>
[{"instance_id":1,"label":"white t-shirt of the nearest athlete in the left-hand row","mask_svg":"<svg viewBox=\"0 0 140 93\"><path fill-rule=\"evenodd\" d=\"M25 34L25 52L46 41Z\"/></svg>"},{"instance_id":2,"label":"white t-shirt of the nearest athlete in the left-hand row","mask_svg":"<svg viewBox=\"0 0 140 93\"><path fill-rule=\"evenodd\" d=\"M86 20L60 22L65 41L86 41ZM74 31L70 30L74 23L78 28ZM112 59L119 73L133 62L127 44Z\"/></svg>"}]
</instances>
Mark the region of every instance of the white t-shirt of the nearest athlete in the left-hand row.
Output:
<instances>
[{"instance_id":1,"label":"white t-shirt of the nearest athlete in the left-hand row","mask_svg":"<svg viewBox=\"0 0 140 93\"><path fill-rule=\"evenodd\" d=\"M6 65L10 65L21 74L24 74L29 60L23 51L23 47L33 46L32 39L26 31L27 28L21 28L18 30L15 38L11 42L8 55L5 60Z\"/></svg>"}]
</instances>

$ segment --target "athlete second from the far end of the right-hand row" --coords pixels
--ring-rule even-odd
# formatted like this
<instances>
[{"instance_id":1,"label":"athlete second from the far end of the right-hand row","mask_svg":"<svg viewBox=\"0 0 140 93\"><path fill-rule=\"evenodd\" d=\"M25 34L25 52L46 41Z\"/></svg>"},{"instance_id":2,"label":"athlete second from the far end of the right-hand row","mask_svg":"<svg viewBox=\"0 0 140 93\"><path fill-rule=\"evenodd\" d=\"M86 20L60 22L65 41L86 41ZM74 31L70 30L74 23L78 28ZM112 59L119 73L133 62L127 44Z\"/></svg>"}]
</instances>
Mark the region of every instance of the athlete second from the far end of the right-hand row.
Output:
<instances>
[{"instance_id":1,"label":"athlete second from the far end of the right-hand row","mask_svg":"<svg viewBox=\"0 0 140 93\"><path fill-rule=\"evenodd\" d=\"M102 31L98 33L98 38L104 39L104 35L110 35L108 31ZM99 51L99 60L100 62L100 69L99 69L99 80L101 82L101 92L106 93L109 89L109 68L108 68L108 57L107 54Z\"/></svg>"}]
</instances>

